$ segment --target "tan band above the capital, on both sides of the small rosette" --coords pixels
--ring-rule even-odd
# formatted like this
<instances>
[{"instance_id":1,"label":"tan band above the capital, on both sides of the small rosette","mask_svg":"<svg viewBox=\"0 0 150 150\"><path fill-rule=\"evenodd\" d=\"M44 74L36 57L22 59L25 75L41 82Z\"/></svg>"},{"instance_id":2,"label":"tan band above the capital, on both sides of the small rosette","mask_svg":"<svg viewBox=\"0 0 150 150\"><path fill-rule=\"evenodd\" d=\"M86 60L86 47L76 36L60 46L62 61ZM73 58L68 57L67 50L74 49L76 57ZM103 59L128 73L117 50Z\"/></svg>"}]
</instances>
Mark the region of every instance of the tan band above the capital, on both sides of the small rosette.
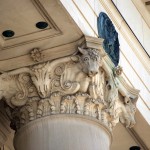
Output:
<instances>
[{"instance_id":1,"label":"tan band above the capital, on both sides of the small rosette","mask_svg":"<svg viewBox=\"0 0 150 150\"><path fill-rule=\"evenodd\" d=\"M42 49L42 54L44 55L44 61L57 59L59 57L65 57L71 55L76 52L76 47L84 43L85 38L81 37L80 39L64 44L59 45L57 47ZM19 62L19 63L18 63ZM0 72L10 71L13 69L30 66L37 64L37 62L33 62L30 54L18 56L11 59L1 60L0 61Z\"/></svg>"}]
</instances>

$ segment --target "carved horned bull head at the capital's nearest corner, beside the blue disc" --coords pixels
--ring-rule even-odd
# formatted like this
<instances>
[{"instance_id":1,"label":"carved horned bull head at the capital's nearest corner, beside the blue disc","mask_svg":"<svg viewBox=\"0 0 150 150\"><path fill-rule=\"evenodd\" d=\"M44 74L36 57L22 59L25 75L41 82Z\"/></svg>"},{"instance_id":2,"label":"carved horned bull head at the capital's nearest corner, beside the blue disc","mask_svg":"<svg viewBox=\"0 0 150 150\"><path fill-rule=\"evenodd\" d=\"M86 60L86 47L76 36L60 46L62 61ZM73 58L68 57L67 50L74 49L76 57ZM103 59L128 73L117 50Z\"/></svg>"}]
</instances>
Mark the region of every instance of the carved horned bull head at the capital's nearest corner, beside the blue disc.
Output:
<instances>
[{"instance_id":1,"label":"carved horned bull head at the capital's nearest corner, beside the blue disc","mask_svg":"<svg viewBox=\"0 0 150 150\"><path fill-rule=\"evenodd\" d=\"M99 72L99 67L102 66L102 56L96 49L78 48L82 54L80 62L83 67L83 72L89 77L95 76Z\"/></svg>"}]
</instances>

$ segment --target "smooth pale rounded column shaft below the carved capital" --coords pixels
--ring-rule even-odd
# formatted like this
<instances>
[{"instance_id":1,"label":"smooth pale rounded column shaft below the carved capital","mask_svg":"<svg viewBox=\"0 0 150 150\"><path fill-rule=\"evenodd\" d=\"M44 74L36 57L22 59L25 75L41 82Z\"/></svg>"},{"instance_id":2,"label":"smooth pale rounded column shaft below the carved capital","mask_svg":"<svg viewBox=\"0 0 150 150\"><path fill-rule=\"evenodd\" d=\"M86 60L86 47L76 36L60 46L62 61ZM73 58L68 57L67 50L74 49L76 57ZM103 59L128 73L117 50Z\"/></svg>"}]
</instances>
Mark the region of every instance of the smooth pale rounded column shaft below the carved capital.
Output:
<instances>
[{"instance_id":1,"label":"smooth pale rounded column shaft below the carved capital","mask_svg":"<svg viewBox=\"0 0 150 150\"><path fill-rule=\"evenodd\" d=\"M109 150L111 133L96 119L47 116L18 130L16 150Z\"/></svg>"}]
</instances>

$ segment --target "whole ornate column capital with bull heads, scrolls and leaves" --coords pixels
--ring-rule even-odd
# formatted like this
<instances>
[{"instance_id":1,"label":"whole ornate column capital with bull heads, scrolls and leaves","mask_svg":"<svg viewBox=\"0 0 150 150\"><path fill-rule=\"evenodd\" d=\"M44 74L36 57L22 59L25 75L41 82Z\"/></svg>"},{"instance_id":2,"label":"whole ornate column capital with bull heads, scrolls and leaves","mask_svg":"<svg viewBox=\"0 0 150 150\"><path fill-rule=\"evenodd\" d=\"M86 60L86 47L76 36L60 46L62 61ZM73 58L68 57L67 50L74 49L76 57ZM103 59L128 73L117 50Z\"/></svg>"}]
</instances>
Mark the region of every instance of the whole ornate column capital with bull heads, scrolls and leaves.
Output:
<instances>
[{"instance_id":1,"label":"whole ornate column capital with bull heads, scrolls and leaves","mask_svg":"<svg viewBox=\"0 0 150 150\"><path fill-rule=\"evenodd\" d=\"M0 98L8 104L11 127L57 114L89 116L110 130L119 121L132 127L139 91L104 56L102 50L79 48L77 55L2 74Z\"/></svg>"}]
</instances>

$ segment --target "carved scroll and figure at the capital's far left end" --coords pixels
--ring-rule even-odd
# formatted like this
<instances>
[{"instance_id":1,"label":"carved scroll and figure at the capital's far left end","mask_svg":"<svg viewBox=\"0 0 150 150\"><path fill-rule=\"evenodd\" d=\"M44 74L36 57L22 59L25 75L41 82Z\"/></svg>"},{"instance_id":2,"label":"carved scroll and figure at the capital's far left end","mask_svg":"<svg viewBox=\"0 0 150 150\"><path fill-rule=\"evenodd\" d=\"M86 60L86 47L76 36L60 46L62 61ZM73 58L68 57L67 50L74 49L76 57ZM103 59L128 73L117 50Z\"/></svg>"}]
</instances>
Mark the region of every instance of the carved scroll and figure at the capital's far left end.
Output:
<instances>
[{"instance_id":1,"label":"carved scroll and figure at the capital's far left end","mask_svg":"<svg viewBox=\"0 0 150 150\"><path fill-rule=\"evenodd\" d=\"M0 99L5 98L11 107L23 106L35 88L32 85L28 74L8 75L4 73L0 76Z\"/></svg>"}]
</instances>

